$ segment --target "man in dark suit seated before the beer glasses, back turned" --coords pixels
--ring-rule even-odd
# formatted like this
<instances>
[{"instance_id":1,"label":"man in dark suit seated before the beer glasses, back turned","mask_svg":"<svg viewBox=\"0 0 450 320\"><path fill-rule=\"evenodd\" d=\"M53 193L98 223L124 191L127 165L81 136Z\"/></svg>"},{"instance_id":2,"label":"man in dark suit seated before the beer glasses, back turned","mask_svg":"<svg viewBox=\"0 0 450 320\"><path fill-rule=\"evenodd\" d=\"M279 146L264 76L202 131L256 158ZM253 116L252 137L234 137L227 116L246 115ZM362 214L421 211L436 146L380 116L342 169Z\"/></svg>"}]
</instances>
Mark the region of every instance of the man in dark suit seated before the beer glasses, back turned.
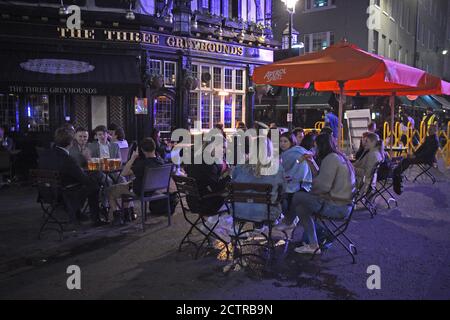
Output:
<instances>
[{"instance_id":1,"label":"man in dark suit seated before the beer glasses, back turned","mask_svg":"<svg viewBox=\"0 0 450 320\"><path fill-rule=\"evenodd\" d=\"M59 128L55 132L54 147L41 156L39 168L45 170L56 170L61 175L63 187L75 185L70 191L63 195L69 213L73 215L79 211L88 198L91 219L94 226L102 225L99 218L98 185L90 179L69 156L69 148L72 145L73 132L66 128ZM70 217L72 222L75 217Z\"/></svg>"}]
</instances>

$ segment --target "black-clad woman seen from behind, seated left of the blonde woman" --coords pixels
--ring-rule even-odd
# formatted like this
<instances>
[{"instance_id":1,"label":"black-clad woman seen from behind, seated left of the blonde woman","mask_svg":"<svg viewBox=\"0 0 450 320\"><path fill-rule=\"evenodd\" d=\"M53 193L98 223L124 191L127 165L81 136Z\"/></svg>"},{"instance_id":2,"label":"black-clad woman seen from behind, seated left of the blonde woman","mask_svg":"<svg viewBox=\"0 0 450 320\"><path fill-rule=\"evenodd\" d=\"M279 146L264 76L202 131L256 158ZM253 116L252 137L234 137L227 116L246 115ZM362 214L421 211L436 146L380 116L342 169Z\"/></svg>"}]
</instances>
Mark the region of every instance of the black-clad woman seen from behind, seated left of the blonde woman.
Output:
<instances>
[{"instance_id":1,"label":"black-clad woman seen from behind, seated left of the blonde woman","mask_svg":"<svg viewBox=\"0 0 450 320\"><path fill-rule=\"evenodd\" d=\"M192 155L195 157L194 151L203 152L208 144L209 143L203 144L201 150L193 150ZM194 163L194 161L192 161L192 163ZM205 197L209 195L209 197L200 203L197 199L187 196L186 200L192 211L214 215L224 205L225 197L221 195L221 193L224 193L226 185L230 181L230 176L228 171L223 172L222 168L222 164L207 164L204 161L201 164L185 165L184 170L187 176L194 178L197 182L200 196ZM212 194L217 195L211 196Z\"/></svg>"}]
</instances>

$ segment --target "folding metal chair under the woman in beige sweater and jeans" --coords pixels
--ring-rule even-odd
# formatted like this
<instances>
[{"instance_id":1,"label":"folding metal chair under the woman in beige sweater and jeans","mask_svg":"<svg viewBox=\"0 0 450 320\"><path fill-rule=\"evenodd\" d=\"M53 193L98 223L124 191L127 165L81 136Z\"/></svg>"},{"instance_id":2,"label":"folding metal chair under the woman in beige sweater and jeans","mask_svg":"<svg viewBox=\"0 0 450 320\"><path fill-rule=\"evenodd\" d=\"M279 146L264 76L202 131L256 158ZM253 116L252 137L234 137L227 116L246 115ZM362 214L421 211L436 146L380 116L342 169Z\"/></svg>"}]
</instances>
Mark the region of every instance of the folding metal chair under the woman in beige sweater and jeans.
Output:
<instances>
[{"instance_id":1,"label":"folding metal chair under the woman in beige sweater and jeans","mask_svg":"<svg viewBox=\"0 0 450 320\"><path fill-rule=\"evenodd\" d=\"M352 196L352 208L350 210L349 215L344 219L336 219L336 218L330 218L327 216L324 216L321 211L314 214L314 219L319 221L325 229L331 234L332 239L336 240L344 249L347 251L347 253L352 257L352 263L356 263L355 255L358 254L358 251L356 249L356 246L354 242L345 234L345 232L348 229L348 226L350 225L350 222L353 217L353 212L355 211L356 202L359 198L359 190L355 190ZM326 242L319 243L319 248L314 252L311 259L314 259L314 257L317 255L317 252L319 250L323 251L326 250Z\"/></svg>"}]
</instances>

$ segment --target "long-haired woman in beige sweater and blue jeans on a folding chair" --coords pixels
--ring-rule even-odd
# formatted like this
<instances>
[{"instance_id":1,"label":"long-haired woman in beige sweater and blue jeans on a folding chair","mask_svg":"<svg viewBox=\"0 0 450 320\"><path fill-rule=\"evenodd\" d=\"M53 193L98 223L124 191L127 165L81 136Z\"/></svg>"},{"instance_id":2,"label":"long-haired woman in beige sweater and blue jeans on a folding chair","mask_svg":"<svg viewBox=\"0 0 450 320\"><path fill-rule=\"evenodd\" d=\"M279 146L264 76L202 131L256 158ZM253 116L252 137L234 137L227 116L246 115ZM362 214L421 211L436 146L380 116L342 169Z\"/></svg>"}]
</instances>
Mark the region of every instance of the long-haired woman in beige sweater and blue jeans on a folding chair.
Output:
<instances>
[{"instance_id":1,"label":"long-haired woman in beige sweater and blue jeans on a folding chair","mask_svg":"<svg viewBox=\"0 0 450 320\"><path fill-rule=\"evenodd\" d=\"M321 134L316 139L317 153L321 160L320 171L311 155L304 158L310 165L315 177L310 193L297 192L291 204L289 216L285 217L283 226L292 223L296 215L305 229L309 244L295 249L298 253L314 253L319 249L316 225L313 214L331 218L346 218L352 208L352 194L355 186L355 173L350 161L337 150L333 137ZM282 227L282 226L280 226ZM279 227L279 228L280 228ZM320 250L317 251L320 253Z\"/></svg>"}]
</instances>

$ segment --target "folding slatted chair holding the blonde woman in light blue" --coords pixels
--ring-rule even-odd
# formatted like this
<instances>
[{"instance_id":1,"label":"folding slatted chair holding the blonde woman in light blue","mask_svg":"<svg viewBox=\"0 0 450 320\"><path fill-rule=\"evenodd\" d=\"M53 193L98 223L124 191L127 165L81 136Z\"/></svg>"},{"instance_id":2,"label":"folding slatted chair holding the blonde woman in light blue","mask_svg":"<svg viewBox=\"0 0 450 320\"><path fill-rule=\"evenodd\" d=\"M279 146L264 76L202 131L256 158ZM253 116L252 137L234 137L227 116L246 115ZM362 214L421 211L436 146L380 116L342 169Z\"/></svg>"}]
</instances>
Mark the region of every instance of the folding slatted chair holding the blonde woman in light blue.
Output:
<instances>
[{"instance_id":1,"label":"folding slatted chair holding the blonde woman in light blue","mask_svg":"<svg viewBox=\"0 0 450 320\"><path fill-rule=\"evenodd\" d=\"M272 218L271 212L275 206L281 204L281 191L279 187L277 190L277 199L272 200L273 186L271 184L255 184L255 183L231 183L229 185L228 201L231 204L232 216L233 216L233 235L231 236L233 244L233 259L241 267L245 266L243 258L253 256L266 262L270 262L275 256L275 242L272 237L272 230L275 226L275 220ZM267 216L262 221L252 220L247 217L243 217L236 209L237 203L247 204L263 204L267 206ZM245 228L248 224L251 228ZM257 230L256 225L267 226L267 234L263 229ZM264 238L263 243L248 243L249 234L258 233ZM285 240L287 243L288 236L285 234ZM243 252L243 248L248 246L256 246L263 248L267 252L267 256L264 257L260 254L253 252Z\"/></svg>"}]
</instances>

